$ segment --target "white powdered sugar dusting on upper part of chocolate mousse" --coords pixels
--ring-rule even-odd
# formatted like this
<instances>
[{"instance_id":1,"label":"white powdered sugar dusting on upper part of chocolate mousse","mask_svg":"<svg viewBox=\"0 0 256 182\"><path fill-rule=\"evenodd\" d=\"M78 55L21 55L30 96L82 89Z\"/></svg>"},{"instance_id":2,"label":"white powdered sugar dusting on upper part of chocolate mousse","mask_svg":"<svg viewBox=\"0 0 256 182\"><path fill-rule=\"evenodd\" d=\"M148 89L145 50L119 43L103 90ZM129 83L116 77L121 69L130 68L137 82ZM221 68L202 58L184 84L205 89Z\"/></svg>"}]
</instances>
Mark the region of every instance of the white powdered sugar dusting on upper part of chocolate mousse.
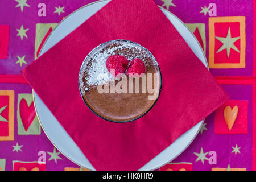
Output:
<instances>
[{"instance_id":1,"label":"white powdered sugar dusting on upper part of chocolate mousse","mask_svg":"<svg viewBox=\"0 0 256 182\"><path fill-rule=\"evenodd\" d=\"M115 54L125 56L126 59L129 60L129 64L135 58L141 59L146 65L146 71L147 66L158 65L154 56L152 56L146 48L137 43L127 40L113 40L103 43L94 48L93 51L86 56L82 64L79 83L82 85L83 92L95 88L99 84L107 84L114 79L106 68L106 60L109 56Z\"/></svg>"}]
</instances>

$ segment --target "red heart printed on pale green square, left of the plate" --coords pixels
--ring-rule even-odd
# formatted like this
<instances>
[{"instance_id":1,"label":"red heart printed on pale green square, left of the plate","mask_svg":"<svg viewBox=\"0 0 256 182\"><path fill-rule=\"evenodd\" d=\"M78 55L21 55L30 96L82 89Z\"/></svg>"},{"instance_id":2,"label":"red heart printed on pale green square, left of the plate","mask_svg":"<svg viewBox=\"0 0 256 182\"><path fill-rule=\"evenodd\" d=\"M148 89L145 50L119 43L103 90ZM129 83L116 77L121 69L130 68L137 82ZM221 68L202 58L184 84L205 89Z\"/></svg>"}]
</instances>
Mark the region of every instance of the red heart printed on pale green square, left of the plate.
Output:
<instances>
[{"instance_id":1,"label":"red heart printed on pale green square, left of the plate","mask_svg":"<svg viewBox=\"0 0 256 182\"><path fill-rule=\"evenodd\" d=\"M33 102L31 102L30 106L28 106L27 101L24 98L22 98L22 100L19 103L19 111L24 129L25 131L27 131L32 121L34 121L36 115Z\"/></svg>"}]
</instances>

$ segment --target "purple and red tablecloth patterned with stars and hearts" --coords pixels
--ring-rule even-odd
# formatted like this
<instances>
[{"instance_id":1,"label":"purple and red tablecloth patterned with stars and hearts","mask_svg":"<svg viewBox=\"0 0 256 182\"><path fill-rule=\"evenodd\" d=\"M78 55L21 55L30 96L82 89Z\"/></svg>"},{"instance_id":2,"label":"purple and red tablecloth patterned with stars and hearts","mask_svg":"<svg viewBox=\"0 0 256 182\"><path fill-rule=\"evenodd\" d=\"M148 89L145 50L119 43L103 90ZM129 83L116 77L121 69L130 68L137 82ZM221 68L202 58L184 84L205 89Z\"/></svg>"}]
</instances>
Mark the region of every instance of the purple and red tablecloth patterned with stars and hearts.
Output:
<instances>
[{"instance_id":1,"label":"purple and red tablecloth patterned with stars and hearts","mask_svg":"<svg viewBox=\"0 0 256 182\"><path fill-rule=\"evenodd\" d=\"M92 0L1 0L0 171L79 170L40 127L32 89L20 71L49 33ZM203 47L210 72L230 100L210 114L191 146L160 170L256 169L256 64L253 0L155 0L174 13ZM255 24L255 23L254 23ZM72 113L71 113L72 114ZM45 161L39 165L38 160ZM84 169L85 170L85 169Z\"/></svg>"}]
</instances>

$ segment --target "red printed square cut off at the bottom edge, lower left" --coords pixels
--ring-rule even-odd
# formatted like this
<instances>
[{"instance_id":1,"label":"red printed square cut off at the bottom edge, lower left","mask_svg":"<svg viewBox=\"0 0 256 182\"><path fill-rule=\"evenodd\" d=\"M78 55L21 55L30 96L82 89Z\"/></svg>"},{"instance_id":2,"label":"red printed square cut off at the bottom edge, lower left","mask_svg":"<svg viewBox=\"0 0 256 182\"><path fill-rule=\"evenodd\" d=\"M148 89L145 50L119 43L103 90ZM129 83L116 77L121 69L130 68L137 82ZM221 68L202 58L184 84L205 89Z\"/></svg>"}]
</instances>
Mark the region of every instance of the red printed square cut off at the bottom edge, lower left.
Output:
<instances>
[{"instance_id":1,"label":"red printed square cut off at the bottom edge, lower left","mask_svg":"<svg viewBox=\"0 0 256 182\"><path fill-rule=\"evenodd\" d=\"M46 171L46 164L14 160L13 171Z\"/></svg>"}]
</instances>

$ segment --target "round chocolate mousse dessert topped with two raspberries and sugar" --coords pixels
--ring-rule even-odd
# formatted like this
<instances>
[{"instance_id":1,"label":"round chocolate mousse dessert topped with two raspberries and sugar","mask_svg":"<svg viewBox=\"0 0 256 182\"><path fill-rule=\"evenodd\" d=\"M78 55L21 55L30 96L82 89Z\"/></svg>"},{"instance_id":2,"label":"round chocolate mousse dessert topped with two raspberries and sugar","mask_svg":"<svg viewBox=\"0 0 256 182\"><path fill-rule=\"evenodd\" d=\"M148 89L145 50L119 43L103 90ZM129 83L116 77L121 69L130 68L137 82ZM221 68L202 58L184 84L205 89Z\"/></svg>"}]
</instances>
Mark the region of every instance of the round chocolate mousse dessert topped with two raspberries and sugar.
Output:
<instances>
[{"instance_id":1,"label":"round chocolate mousse dessert topped with two raspberries and sugar","mask_svg":"<svg viewBox=\"0 0 256 182\"><path fill-rule=\"evenodd\" d=\"M94 48L79 73L86 105L113 122L133 121L146 114L158 99L161 84L155 57L128 40L112 40Z\"/></svg>"}]
</instances>

